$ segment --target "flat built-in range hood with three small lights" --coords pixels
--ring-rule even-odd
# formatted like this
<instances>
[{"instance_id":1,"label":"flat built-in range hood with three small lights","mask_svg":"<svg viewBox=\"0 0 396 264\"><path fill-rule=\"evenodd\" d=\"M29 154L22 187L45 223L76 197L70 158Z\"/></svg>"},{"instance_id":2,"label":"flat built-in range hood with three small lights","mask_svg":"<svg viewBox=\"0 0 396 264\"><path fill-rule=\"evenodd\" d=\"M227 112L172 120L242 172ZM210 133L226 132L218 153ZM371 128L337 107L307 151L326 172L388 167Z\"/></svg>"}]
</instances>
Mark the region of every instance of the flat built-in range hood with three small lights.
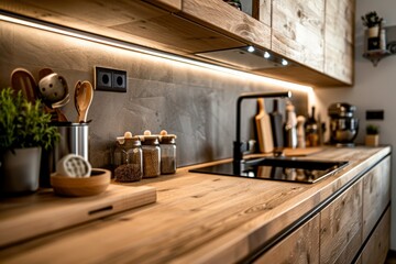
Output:
<instances>
[{"instance_id":1,"label":"flat built-in range hood with three small lights","mask_svg":"<svg viewBox=\"0 0 396 264\"><path fill-rule=\"evenodd\" d=\"M290 62L270 51L243 46L221 51L196 53L195 55L243 70L260 70L290 66Z\"/></svg>"}]
</instances>

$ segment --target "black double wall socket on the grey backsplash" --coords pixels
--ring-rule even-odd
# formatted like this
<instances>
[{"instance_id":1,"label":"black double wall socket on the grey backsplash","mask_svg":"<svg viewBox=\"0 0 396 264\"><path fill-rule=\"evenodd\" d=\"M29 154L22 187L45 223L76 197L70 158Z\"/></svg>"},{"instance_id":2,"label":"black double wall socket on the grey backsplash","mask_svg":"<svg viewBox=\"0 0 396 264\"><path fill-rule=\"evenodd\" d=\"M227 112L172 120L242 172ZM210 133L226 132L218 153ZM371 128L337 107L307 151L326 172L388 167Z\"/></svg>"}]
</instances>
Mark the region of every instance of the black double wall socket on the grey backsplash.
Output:
<instances>
[{"instance_id":1,"label":"black double wall socket on the grey backsplash","mask_svg":"<svg viewBox=\"0 0 396 264\"><path fill-rule=\"evenodd\" d=\"M127 92L127 72L103 67L95 67L95 89L103 91Z\"/></svg>"}]
</instances>

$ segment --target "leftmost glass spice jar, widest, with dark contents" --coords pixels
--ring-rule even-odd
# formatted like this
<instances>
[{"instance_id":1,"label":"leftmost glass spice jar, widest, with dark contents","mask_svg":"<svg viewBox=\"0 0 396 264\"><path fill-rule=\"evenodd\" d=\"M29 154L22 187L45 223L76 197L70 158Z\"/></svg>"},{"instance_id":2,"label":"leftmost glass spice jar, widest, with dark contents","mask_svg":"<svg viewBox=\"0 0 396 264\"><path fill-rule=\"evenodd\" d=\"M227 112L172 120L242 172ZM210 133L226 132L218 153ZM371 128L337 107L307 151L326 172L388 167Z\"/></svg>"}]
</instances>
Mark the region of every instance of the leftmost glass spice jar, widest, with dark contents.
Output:
<instances>
[{"instance_id":1,"label":"leftmost glass spice jar, widest, with dark contents","mask_svg":"<svg viewBox=\"0 0 396 264\"><path fill-rule=\"evenodd\" d=\"M114 153L114 179L120 183L139 182L143 177L143 153L139 136L125 132L124 138L118 138Z\"/></svg>"}]
</instances>

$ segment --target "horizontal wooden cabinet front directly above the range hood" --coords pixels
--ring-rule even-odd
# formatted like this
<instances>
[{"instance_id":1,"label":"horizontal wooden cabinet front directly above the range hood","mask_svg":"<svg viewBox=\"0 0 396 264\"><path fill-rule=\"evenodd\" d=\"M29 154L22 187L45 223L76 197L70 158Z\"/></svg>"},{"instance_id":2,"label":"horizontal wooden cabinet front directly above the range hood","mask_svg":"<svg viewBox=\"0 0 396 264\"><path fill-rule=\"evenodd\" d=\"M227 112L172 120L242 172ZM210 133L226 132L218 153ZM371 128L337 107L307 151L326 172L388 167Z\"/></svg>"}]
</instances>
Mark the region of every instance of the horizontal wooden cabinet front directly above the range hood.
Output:
<instances>
[{"instance_id":1,"label":"horizontal wooden cabinet front directly above the range hood","mask_svg":"<svg viewBox=\"0 0 396 264\"><path fill-rule=\"evenodd\" d=\"M246 44L271 48L271 28L219 0L184 0L182 15Z\"/></svg>"}]
</instances>

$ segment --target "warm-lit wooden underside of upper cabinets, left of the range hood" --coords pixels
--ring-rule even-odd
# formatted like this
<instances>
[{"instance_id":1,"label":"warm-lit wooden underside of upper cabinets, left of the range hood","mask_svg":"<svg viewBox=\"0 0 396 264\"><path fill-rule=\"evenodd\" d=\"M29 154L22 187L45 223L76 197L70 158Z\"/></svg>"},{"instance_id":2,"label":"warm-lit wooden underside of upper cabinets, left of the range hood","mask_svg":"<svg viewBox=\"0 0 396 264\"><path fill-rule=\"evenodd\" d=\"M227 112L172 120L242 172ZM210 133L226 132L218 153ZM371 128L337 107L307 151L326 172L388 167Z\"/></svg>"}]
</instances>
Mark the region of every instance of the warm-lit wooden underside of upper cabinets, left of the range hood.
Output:
<instances>
[{"instance_id":1,"label":"warm-lit wooden underside of upper cabinets, left of the range hood","mask_svg":"<svg viewBox=\"0 0 396 264\"><path fill-rule=\"evenodd\" d=\"M244 44L143 1L2 1L0 9L176 54Z\"/></svg>"}]
</instances>

